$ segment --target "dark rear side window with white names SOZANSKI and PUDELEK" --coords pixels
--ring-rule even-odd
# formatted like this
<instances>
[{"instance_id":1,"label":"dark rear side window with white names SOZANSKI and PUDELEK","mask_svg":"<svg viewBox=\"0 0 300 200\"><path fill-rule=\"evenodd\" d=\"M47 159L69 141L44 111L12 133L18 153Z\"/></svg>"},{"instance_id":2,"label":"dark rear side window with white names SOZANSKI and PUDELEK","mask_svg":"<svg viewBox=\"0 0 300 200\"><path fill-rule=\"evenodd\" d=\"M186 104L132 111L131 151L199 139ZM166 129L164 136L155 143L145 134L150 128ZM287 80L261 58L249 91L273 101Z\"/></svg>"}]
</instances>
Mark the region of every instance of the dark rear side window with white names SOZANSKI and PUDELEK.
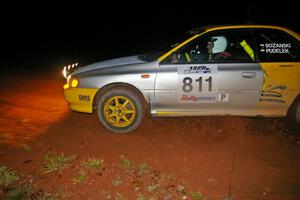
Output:
<instances>
[{"instance_id":1,"label":"dark rear side window with white names SOZANSKI and PUDELEK","mask_svg":"<svg viewBox=\"0 0 300 200\"><path fill-rule=\"evenodd\" d=\"M296 39L280 30L258 29L255 36L261 62L300 61L300 48Z\"/></svg>"}]
</instances>

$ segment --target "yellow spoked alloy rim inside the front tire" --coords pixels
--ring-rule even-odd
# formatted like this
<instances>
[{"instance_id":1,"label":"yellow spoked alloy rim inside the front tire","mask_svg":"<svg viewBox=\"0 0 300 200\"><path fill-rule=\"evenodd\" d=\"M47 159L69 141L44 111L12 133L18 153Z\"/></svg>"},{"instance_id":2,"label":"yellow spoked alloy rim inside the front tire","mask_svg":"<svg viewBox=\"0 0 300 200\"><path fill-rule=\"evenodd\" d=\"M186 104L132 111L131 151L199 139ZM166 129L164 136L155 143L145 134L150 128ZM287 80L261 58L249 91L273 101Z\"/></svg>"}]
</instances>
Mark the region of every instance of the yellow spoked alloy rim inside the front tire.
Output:
<instances>
[{"instance_id":1,"label":"yellow spoked alloy rim inside the front tire","mask_svg":"<svg viewBox=\"0 0 300 200\"><path fill-rule=\"evenodd\" d=\"M124 96L113 96L104 105L104 117L115 127L126 127L132 124L136 116L133 102Z\"/></svg>"}]
</instances>

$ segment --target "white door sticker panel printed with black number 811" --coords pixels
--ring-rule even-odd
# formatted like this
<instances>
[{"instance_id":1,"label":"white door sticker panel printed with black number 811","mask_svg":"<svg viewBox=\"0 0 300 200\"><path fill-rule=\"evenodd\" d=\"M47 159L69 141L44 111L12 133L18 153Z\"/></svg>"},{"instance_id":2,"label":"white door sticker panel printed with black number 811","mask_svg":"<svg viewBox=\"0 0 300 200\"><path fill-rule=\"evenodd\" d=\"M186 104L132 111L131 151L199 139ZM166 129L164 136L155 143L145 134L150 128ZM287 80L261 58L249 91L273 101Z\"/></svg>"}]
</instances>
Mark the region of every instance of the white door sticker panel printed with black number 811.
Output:
<instances>
[{"instance_id":1,"label":"white door sticker panel printed with black number 811","mask_svg":"<svg viewBox=\"0 0 300 200\"><path fill-rule=\"evenodd\" d=\"M178 66L178 103L216 103L228 101L228 94L218 94L218 66Z\"/></svg>"}]
</instances>

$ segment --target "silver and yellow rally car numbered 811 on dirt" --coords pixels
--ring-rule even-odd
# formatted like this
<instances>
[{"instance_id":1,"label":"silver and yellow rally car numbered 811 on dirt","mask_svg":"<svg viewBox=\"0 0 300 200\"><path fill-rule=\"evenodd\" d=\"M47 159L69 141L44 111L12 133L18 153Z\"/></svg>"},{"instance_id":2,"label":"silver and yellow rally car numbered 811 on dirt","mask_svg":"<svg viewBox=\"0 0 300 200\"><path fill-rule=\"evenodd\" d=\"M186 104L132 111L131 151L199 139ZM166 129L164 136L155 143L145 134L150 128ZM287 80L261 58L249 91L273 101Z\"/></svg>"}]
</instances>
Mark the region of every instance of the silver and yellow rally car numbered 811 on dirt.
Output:
<instances>
[{"instance_id":1,"label":"silver and yellow rally car numbered 811 on dirt","mask_svg":"<svg viewBox=\"0 0 300 200\"><path fill-rule=\"evenodd\" d=\"M149 53L65 68L64 96L115 133L136 129L146 113L287 116L299 128L299 40L277 26L201 27Z\"/></svg>"}]
</instances>

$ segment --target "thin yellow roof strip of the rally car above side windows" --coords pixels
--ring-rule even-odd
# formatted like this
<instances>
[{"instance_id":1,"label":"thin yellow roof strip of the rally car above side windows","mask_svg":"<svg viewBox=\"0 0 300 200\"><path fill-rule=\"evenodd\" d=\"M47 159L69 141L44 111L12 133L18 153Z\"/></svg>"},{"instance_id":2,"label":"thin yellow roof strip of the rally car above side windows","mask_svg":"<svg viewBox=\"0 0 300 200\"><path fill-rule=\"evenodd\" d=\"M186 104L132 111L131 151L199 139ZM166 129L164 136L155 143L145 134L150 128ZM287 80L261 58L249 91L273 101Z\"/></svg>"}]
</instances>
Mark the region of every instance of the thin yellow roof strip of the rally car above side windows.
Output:
<instances>
[{"instance_id":1,"label":"thin yellow roof strip of the rally car above side windows","mask_svg":"<svg viewBox=\"0 0 300 200\"><path fill-rule=\"evenodd\" d=\"M300 40L300 35L288 28L274 25L254 25L254 24L244 24L244 25L212 25L212 26L202 26L190 30L190 34L201 34L203 32L210 32L215 30L225 30L225 29L240 29L240 28L264 28L264 29L277 29L289 33L298 40Z\"/></svg>"}]
</instances>

